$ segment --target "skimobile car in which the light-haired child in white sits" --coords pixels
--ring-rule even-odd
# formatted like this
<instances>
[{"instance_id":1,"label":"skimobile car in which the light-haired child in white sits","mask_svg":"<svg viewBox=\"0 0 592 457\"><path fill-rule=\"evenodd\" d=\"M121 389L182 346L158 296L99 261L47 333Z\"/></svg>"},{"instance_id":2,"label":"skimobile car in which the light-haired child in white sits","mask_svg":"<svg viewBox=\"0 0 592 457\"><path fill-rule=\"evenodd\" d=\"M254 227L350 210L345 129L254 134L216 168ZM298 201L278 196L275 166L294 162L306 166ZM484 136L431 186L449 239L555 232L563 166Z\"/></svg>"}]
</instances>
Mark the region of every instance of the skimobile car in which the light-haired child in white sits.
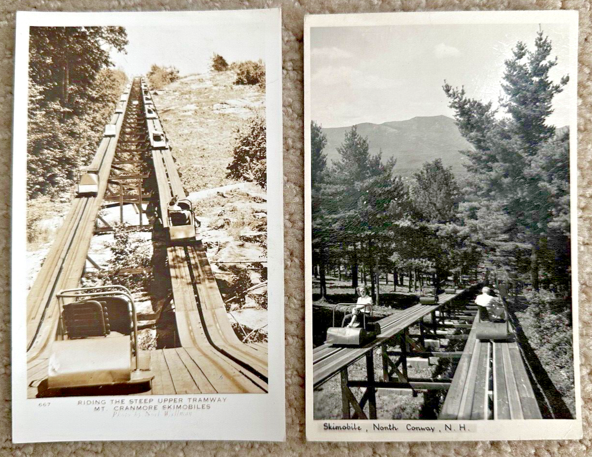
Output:
<instances>
[{"instance_id":1,"label":"skimobile car in which the light-haired child in white sits","mask_svg":"<svg viewBox=\"0 0 592 457\"><path fill-rule=\"evenodd\" d=\"M356 304L350 304L345 309L341 326L335 325L335 309L337 306L342 306L348 303L337 303L333 306L333 326L327 329L327 344L333 344L336 346L363 346L366 343L374 340L380 335L381 329L378 322L369 322L372 319L372 305L366 304L359 313L359 319L361 322L356 322L357 327L347 327L349 320L353 315L353 309L358 306ZM348 313L351 312L351 313Z\"/></svg>"}]
</instances>

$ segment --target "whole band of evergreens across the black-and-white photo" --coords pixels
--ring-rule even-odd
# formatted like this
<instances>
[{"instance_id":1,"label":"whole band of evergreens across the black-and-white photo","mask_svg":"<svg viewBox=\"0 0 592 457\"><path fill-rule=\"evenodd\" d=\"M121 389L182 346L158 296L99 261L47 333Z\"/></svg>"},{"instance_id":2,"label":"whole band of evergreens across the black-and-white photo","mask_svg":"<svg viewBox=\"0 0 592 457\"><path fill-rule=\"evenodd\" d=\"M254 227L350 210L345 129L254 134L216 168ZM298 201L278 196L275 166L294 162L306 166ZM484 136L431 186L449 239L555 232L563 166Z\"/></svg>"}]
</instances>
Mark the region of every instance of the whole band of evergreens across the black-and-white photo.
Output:
<instances>
[{"instance_id":1,"label":"whole band of evergreens across the black-and-white photo","mask_svg":"<svg viewBox=\"0 0 592 457\"><path fill-rule=\"evenodd\" d=\"M570 284L569 132L546 120L568 83L549 79L556 59L539 33L529 51L518 43L505 62L497 109L445 83L461 134L472 145L462 186L440 159L409 183L394 160L370 155L356 127L346 132L339 160L327 164L326 137L311 124L313 265L326 296L327 269L342 268L355 287L369 273L414 283L446 277L458 285L479 268L568 292ZM493 275L492 275L493 276Z\"/></svg>"}]
</instances>

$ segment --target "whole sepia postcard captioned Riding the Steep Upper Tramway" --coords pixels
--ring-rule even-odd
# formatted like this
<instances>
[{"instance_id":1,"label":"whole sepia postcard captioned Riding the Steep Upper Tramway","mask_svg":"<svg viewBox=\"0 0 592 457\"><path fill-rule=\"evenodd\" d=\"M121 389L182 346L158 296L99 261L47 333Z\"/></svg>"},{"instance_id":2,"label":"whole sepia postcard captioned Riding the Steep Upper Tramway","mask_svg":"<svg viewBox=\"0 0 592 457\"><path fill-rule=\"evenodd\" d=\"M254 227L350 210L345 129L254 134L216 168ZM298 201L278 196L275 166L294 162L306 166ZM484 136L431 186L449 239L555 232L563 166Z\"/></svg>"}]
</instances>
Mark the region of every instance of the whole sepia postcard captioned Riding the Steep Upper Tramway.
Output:
<instances>
[{"instance_id":1,"label":"whole sepia postcard captioned Riding the Steep Upper Tramway","mask_svg":"<svg viewBox=\"0 0 592 457\"><path fill-rule=\"evenodd\" d=\"M13 441L284 440L281 11L19 12L15 57Z\"/></svg>"}]
</instances>

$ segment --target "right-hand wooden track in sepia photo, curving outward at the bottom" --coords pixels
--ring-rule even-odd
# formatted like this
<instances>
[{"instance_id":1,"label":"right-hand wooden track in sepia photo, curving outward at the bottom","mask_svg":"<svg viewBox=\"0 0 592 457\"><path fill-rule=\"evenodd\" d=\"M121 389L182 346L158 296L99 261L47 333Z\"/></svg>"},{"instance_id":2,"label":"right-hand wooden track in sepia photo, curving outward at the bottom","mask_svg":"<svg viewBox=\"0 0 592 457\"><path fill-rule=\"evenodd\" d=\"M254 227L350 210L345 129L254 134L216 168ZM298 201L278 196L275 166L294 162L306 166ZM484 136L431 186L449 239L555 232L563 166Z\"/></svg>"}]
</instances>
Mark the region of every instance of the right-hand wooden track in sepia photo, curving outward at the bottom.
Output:
<instances>
[{"instance_id":1,"label":"right-hand wooden track in sepia photo, curving outward at the bottom","mask_svg":"<svg viewBox=\"0 0 592 457\"><path fill-rule=\"evenodd\" d=\"M148 119L147 122L149 131L163 130L159 119ZM161 220L166 228L168 221L164 212L168 202L173 196L184 199L186 192L170 148L153 150L152 158ZM207 359L208 364L218 365L214 370L214 373L218 373L218 378L213 384L224 381L225 385L214 386L217 391L220 391L219 388L223 389L222 392L267 391L266 345L251 346L237 338L226 315L204 246L200 241L187 246L169 246L167 256L176 324L182 346L194 348L193 351ZM220 376L227 370L234 372L231 378Z\"/></svg>"}]
</instances>

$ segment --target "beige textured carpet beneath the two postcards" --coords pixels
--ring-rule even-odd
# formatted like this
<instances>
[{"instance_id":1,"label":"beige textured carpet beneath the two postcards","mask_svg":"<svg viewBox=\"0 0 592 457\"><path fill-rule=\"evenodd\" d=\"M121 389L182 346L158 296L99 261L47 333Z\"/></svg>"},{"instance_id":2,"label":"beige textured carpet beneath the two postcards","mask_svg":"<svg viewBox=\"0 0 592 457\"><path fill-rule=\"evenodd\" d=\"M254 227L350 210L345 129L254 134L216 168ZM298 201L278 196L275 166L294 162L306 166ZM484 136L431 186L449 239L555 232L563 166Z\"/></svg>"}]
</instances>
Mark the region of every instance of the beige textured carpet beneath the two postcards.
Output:
<instances>
[{"instance_id":1,"label":"beige textured carpet beneath the two postcards","mask_svg":"<svg viewBox=\"0 0 592 457\"><path fill-rule=\"evenodd\" d=\"M0 273L0 457L14 456L506 456L592 455L592 43L590 1L528 0L0 0L0 264L10 261L12 86L15 11L170 11L283 8L284 52L284 236L287 442L73 442L14 445L10 402L10 273ZM304 216L303 216L303 19L307 13L578 9L578 256L580 265L580 361L584 439L480 443L307 443L304 435ZM574 209L575 210L575 209ZM24 304L23 304L24 306ZM59 417L56 417L59 420ZM552 422L548 422L552 427Z\"/></svg>"}]
</instances>

